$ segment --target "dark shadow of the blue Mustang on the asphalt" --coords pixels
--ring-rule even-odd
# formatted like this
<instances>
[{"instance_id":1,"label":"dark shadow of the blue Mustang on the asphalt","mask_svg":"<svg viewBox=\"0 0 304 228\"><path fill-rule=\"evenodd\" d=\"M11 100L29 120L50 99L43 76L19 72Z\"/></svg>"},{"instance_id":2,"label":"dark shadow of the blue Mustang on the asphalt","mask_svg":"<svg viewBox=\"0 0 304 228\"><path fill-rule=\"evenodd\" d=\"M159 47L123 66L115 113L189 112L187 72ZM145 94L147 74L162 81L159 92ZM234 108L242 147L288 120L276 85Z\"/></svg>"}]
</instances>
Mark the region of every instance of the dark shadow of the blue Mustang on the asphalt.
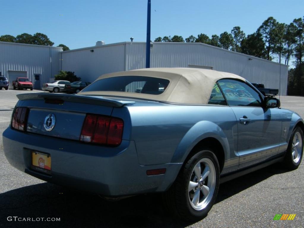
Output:
<instances>
[{"instance_id":1,"label":"dark shadow of the blue Mustang on the asphalt","mask_svg":"<svg viewBox=\"0 0 304 228\"><path fill-rule=\"evenodd\" d=\"M216 203L275 174L272 165L220 185ZM12 221L8 217L12 216ZM60 218L60 221L14 221L18 218ZM18 218L16 218L18 220ZM160 194L147 194L110 202L97 195L50 183L30 185L0 194L0 227L185 227L193 223L169 215Z\"/></svg>"}]
</instances>

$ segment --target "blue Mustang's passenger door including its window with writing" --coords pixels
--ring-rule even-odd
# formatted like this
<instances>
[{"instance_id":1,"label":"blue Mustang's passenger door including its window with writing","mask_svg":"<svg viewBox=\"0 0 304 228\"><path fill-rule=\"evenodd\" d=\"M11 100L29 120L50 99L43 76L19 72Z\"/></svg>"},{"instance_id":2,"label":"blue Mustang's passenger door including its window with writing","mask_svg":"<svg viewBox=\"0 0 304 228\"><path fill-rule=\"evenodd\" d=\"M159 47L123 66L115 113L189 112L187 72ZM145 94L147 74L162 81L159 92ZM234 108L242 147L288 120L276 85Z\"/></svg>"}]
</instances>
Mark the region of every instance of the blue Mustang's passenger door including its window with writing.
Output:
<instances>
[{"instance_id":1,"label":"blue Mustang's passenger door including its window with writing","mask_svg":"<svg viewBox=\"0 0 304 228\"><path fill-rule=\"evenodd\" d=\"M239 169L275 156L282 131L278 109L264 108L262 96L244 81L221 79L218 83L237 118Z\"/></svg>"}]
</instances>

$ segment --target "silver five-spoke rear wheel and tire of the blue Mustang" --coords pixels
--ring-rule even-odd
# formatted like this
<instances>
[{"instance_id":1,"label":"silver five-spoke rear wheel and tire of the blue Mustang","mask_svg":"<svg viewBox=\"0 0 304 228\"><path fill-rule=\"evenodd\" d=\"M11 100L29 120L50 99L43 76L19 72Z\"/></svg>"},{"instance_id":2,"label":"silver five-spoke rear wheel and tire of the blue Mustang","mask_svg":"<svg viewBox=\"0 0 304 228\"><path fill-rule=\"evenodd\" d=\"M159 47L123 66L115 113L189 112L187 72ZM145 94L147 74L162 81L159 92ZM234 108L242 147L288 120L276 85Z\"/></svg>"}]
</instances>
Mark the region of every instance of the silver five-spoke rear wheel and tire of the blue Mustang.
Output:
<instances>
[{"instance_id":1,"label":"silver five-spoke rear wheel and tire of the blue Mustang","mask_svg":"<svg viewBox=\"0 0 304 228\"><path fill-rule=\"evenodd\" d=\"M219 162L209 148L197 152L183 165L164 201L179 218L203 219L212 208L219 190Z\"/></svg>"}]
</instances>

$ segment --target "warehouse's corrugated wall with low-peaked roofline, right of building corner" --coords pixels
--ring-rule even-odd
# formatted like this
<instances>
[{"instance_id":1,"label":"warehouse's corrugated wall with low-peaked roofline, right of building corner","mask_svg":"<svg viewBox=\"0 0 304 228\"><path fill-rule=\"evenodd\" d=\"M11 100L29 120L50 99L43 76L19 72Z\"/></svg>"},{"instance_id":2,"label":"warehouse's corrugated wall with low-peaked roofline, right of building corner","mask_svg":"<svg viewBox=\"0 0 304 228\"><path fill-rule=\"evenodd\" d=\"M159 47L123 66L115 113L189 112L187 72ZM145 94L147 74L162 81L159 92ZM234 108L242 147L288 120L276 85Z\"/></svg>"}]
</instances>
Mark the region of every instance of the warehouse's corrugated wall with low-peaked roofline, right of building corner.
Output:
<instances>
[{"instance_id":1,"label":"warehouse's corrugated wall with low-peaked roofline, right of building corner","mask_svg":"<svg viewBox=\"0 0 304 228\"><path fill-rule=\"evenodd\" d=\"M145 50L145 43L126 46L127 70L145 67ZM150 67L212 67L216 71L240 75L253 83L263 83L266 88L281 86L280 95L286 95L288 66L284 64L200 43L154 42L150 50Z\"/></svg>"}]
</instances>

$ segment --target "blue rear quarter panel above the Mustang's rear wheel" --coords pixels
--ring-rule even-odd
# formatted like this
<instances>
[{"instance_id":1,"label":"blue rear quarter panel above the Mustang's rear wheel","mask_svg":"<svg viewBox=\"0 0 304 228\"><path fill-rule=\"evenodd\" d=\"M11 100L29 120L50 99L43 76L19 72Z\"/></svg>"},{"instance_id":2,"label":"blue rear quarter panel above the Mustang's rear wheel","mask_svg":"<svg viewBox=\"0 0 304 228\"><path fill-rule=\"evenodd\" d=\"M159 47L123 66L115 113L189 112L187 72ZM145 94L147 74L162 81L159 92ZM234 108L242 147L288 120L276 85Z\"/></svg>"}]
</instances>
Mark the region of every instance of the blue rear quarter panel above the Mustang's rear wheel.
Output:
<instances>
[{"instance_id":1,"label":"blue rear quarter panel above the Mustang's rear wheel","mask_svg":"<svg viewBox=\"0 0 304 228\"><path fill-rule=\"evenodd\" d=\"M237 158L237 122L228 106L170 105L150 102L128 106L141 165L183 163L202 139L222 144L225 160Z\"/></svg>"}]
</instances>

